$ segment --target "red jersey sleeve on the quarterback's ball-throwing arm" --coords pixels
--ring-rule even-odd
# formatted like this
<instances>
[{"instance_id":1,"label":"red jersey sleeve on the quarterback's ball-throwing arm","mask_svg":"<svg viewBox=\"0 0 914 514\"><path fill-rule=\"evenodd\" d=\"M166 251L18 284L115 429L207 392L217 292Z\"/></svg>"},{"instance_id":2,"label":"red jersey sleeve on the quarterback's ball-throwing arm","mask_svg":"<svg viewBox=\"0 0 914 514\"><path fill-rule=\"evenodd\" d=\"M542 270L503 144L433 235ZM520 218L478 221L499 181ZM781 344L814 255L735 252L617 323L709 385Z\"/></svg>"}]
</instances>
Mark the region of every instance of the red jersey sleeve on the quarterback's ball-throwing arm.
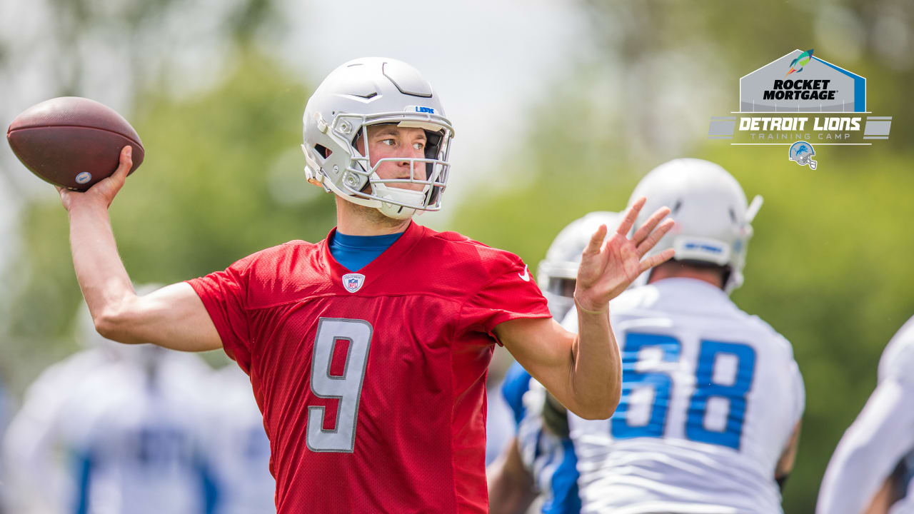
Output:
<instances>
[{"instance_id":1,"label":"red jersey sleeve on the quarterback's ball-throwing arm","mask_svg":"<svg viewBox=\"0 0 914 514\"><path fill-rule=\"evenodd\" d=\"M250 267L255 255L235 262L225 271L186 281L207 308L228 357L238 362L241 369L249 374L250 319L247 299Z\"/></svg>"}]
</instances>

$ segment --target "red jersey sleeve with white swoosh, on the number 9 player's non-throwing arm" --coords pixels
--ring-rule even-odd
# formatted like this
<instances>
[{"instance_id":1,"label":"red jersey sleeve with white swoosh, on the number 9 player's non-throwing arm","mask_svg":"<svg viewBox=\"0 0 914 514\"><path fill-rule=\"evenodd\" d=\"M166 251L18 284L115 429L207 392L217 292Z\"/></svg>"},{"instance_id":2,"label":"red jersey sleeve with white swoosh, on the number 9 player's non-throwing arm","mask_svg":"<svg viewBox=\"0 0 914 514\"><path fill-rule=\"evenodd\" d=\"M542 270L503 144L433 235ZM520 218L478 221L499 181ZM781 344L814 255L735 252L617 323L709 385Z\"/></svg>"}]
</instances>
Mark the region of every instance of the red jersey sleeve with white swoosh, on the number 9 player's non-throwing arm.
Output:
<instances>
[{"instance_id":1,"label":"red jersey sleeve with white swoosh, on the number 9 player's non-throwing arm","mask_svg":"<svg viewBox=\"0 0 914 514\"><path fill-rule=\"evenodd\" d=\"M505 321L550 316L546 298L520 257L500 252L492 270L489 282L462 306L461 325L464 330L495 337L494 327ZM497 337L495 340L497 342Z\"/></svg>"}]
</instances>

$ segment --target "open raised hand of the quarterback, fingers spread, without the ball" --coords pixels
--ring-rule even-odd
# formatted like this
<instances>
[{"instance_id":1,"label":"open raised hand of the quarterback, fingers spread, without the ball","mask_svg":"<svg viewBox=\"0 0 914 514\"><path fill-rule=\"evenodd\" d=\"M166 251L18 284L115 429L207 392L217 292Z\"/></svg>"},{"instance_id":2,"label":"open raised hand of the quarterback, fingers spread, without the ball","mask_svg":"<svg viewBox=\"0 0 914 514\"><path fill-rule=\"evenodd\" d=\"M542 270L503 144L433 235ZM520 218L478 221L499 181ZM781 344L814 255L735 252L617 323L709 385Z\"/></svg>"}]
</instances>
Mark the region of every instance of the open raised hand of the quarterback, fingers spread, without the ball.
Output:
<instances>
[{"instance_id":1,"label":"open raised hand of the quarterback, fingers spread, without the ball","mask_svg":"<svg viewBox=\"0 0 914 514\"><path fill-rule=\"evenodd\" d=\"M606 238L606 225L600 225L590 238L590 243L581 256L578 284L574 292L580 308L590 312L606 311L610 300L622 294L638 275L673 257L675 251L670 248L643 259L657 241L673 228L673 220L661 223L670 213L669 208L657 209L634 232L632 238L628 237L645 201L646 198L638 198L625 211L622 223L610 238Z\"/></svg>"}]
</instances>

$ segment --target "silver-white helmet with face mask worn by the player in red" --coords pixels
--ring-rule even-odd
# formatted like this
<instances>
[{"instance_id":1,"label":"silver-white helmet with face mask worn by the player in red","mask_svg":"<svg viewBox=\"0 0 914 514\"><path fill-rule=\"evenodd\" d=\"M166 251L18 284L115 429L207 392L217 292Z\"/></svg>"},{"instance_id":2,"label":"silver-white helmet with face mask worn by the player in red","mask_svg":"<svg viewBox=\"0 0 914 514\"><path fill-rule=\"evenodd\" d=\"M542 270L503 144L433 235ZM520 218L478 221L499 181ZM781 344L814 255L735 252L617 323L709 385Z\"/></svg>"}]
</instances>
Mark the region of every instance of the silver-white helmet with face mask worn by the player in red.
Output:
<instances>
[{"instance_id":1,"label":"silver-white helmet with face mask worn by the player in red","mask_svg":"<svg viewBox=\"0 0 914 514\"><path fill-rule=\"evenodd\" d=\"M395 220L409 219L417 210L441 209L453 128L438 93L409 64L381 58L346 62L314 91L303 123L308 182ZM384 158L371 166L366 127L381 123L423 129L424 158ZM358 137L364 138L365 155L356 149ZM409 161L409 178L378 177L377 166L384 161ZM398 187L403 183L423 187Z\"/></svg>"}]
</instances>

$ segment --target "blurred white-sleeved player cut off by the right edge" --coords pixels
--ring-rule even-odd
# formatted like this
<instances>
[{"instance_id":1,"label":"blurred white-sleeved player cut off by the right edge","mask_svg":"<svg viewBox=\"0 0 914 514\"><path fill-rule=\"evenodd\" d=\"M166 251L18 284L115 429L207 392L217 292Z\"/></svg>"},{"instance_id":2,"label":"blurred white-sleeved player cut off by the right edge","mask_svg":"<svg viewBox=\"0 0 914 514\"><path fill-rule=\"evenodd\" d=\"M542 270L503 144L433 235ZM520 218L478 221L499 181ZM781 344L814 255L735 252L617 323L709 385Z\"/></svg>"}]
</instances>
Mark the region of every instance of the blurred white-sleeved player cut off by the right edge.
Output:
<instances>
[{"instance_id":1,"label":"blurred white-sleeved player cut off by the right edge","mask_svg":"<svg viewBox=\"0 0 914 514\"><path fill-rule=\"evenodd\" d=\"M825 470L819 514L914 512L914 317L888 342L878 375Z\"/></svg>"}]
</instances>

